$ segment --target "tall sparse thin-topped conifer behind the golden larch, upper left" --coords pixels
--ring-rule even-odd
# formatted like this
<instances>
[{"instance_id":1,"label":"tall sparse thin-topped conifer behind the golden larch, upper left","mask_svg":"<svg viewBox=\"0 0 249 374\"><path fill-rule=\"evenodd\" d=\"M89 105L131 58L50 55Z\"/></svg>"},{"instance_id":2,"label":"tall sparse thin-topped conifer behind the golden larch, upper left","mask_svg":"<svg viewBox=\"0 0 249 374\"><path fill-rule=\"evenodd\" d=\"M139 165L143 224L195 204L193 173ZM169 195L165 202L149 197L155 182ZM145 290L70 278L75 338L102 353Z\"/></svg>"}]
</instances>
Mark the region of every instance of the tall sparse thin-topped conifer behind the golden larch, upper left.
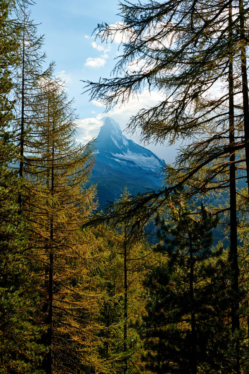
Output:
<instances>
[{"instance_id":1,"label":"tall sparse thin-topped conifer behind the golden larch, upper left","mask_svg":"<svg viewBox=\"0 0 249 374\"><path fill-rule=\"evenodd\" d=\"M37 35L37 25L31 19L31 11L27 3L21 1L17 9L17 26L19 29L18 69L15 74L15 98L16 98L16 141L20 147L19 155L19 177L24 177L25 148L32 141L32 122L36 111L37 95L40 93L40 86L47 84L47 79L52 76L53 63L47 70L43 70L46 54L41 52L44 36ZM19 194L18 203L22 211L22 196Z\"/></svg>"}]
</instances>

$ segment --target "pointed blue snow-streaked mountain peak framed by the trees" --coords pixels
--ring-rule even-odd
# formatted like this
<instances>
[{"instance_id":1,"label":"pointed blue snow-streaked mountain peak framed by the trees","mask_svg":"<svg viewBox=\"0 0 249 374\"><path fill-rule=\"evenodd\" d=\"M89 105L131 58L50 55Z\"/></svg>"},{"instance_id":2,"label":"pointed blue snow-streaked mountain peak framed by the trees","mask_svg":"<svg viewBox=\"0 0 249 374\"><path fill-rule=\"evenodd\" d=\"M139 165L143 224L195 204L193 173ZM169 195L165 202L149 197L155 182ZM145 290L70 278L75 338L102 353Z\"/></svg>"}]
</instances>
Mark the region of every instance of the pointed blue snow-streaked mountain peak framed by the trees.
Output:
<instances>
[{"instance_id":1,"label":"pointed blue snow-streaked mountain peak framed by the trees","mask_svg":"<svg viewBox=\"0 0 249 374\"><path fill-rule=\"evenodd\" d=\"M131 194L158 189L165 161L127 139L118 123L107 117L96 138L96 165L90 183L97 183L100 207L118 199L127 186Z\"/></svg>"}]
</instances>

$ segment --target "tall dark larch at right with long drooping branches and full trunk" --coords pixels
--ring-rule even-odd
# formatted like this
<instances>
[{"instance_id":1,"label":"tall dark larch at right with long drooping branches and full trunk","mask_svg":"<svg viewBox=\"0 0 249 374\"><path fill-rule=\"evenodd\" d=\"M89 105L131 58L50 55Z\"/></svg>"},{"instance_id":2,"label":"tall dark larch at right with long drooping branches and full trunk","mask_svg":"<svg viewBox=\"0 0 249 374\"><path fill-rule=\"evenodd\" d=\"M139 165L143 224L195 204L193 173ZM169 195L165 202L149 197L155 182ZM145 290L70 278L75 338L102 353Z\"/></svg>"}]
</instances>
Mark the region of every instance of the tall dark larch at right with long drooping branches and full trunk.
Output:
<instances>
[{"instance_id":1,"label":"tall dark larch at right with long drooping branches and full trunk","mask_svg":"<svg viewBox=\"0 0 249 374\"><path fill-rule=\"evenodd\" d=\"M236 175L236 165L243 169L245 160L246 170L249 168L245 42L248 10L243 1L160 4L124 1L120 6L123 22L115 27L98 25L97 35L108 41L120 33L123 53L113 70L113 78L87 82L91 95L109 109L128 101L144 87L158 90L164 94L161 102L155 107L142 108L131 118L128 127L132 131L139 127L145 141L168 144L174 144L178 138L189 141L181 149L175 169L166 168L167 188L151 196L137 197L127 211L131 212L137 202L137 210L142 213L141 205L148 204L152 215L154 202L160 206L161 197L175 186L186 185L192 196L208 191L224 196L229 190L230 207L220 210L230 211L234 296L231 329L236 336L240 329L236 179L244 178ZM135 69L138 63L141 68ZM241 64L241 69L237 64ZM226 88L221 90L220 97L210 94L217 83ZM238 344L237 340L239 351ZM239 353L237 356L239 360ZM239 374L239 361L234 370Z\"/></svg>"}]
</instances>

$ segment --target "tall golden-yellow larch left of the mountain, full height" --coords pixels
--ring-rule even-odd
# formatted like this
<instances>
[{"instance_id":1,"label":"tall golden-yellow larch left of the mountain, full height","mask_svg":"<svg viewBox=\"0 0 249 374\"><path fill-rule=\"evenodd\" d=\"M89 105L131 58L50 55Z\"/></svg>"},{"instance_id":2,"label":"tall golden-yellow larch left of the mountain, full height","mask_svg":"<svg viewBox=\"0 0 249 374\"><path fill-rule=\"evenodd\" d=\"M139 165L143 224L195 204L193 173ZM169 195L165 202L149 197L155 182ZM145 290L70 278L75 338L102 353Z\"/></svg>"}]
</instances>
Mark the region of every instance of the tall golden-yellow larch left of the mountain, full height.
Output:
<instances>
[{"instance_id":1,"label":"tall golden-yellow larch left of the mountain, full height","mask_svg":"<svg viewBox=\"0 0 249 374\"><path fill-rule=\"evenodd\" d=\"M24 212L32 224L29 246L40 263L37 287L43 303L38 312L47 327L42 368L46 373L105 373L93 313L100 301L91 291L88 266L97 249L91 234L80 231L95 206L94 187L84 187L94 148L76 144L75 111L62 84L52 80L41 90L35 138L26 155L30 197Z\"/></svg>"}]
</instances>

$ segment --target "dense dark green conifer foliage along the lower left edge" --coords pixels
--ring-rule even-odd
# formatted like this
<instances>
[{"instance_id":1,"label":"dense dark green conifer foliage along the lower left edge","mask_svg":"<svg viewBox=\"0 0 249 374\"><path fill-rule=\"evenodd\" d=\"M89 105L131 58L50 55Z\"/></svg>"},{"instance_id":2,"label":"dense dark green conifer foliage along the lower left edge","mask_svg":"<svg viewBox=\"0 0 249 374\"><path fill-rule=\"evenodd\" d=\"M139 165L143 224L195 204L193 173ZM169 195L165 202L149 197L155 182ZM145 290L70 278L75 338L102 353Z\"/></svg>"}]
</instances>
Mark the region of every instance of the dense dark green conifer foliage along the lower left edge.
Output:
<instances>
[{"instance_id":1,"label":"dense dark green conifer foliage along the lower left edge","mask_svg":"<svg viewBox=\"0 0 249 374\"><path fill-rule=\"evenodd\" d=\"M44 353L35 327L37 294L25 251L27 225L18 214L19 178L3 166L0 178L0 372L40 373Z\"/></svg>"}]
</instances>

